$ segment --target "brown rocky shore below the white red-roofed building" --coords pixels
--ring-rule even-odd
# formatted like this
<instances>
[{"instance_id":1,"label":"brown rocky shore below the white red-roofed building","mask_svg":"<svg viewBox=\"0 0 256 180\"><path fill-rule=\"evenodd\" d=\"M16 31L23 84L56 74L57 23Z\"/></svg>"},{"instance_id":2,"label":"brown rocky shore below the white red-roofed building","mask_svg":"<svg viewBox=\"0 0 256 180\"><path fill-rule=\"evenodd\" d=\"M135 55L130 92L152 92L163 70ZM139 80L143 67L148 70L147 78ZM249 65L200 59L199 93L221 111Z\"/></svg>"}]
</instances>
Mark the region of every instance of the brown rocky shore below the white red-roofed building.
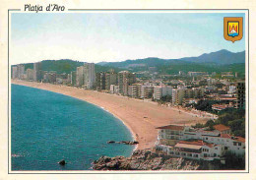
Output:
<instances>
[{"instance_id":1,"label":"brown rocky shore below the white red-roofed building","mask_svg":"<svg viewBox=\"0 0 256 180\"><path fill-rule=\"evenodd\" d=\"M150 150L135 150L130 157L101 156L95 170L199 170L201 162L165 155Z\"/></svg>"}]
</instances>

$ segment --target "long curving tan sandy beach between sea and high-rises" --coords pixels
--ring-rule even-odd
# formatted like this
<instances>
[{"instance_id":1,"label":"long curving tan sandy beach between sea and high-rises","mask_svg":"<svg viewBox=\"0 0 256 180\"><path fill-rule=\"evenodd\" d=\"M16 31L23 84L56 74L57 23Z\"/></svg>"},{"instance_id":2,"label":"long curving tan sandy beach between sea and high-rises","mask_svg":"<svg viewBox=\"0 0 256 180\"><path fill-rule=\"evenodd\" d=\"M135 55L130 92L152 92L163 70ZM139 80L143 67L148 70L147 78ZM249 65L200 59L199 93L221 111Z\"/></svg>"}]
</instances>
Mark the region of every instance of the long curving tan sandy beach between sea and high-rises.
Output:
<instances>
[{"instance_id":1,"label":"long curving tan sandy beach between sea and high-rises","mask_svg":"<svg viewBox=\"0 0 256 180\"><path fill-rule=\"evenodd\" d=\"M131 130L134 138L139 142L139 150L150 149L155 145L158 138L158 130L156 128L159 126L168 124L192 125L206 122L209 119L209 117L202 118L192 113L161 106L158 103L98 92L96 90L82 90L20 80L12 80L12 84L70 95L104 108L123 121Z\"/></svg>"}]
</instances>

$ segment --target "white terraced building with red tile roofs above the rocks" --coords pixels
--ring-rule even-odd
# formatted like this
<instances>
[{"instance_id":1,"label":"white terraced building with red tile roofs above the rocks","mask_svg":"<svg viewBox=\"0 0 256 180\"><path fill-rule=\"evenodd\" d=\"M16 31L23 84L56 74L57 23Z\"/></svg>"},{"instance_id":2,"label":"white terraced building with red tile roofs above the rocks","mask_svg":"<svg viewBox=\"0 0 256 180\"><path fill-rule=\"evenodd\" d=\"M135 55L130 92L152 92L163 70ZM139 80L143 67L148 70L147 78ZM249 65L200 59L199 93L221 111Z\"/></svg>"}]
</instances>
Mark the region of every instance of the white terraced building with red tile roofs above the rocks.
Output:
<instances>
[{"instance_id":1,"label":"white terraced building with red tile roofs above the rocks","mask_svg":"<svg viewBox=\"0 0 256 180\"><path fill-rule=\"evenodd\" d=\"M224 128L217 126L220 127ZM245 153L245 139L222 134L226 128L224 131L205 131L188 126L168 125L157 129L159 136L156 149L173 156L214 160L220 159L227 150L235 155Z\"/></svg>"}]
</instances>

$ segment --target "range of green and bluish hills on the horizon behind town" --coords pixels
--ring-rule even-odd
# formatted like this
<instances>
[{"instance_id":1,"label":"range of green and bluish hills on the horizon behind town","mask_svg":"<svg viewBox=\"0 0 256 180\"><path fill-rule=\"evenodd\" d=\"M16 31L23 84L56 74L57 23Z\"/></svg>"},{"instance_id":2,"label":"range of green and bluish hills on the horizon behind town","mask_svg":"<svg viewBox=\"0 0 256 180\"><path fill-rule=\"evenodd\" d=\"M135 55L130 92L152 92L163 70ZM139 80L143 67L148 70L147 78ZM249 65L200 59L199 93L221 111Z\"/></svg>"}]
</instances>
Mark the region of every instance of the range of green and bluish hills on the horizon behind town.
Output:
<instances>
[{"instance_id":1,"label":"range of green and bluish hills on the horizon behind town","mask_svg":"<svg viewBox=\"0 0 256 180\"><path fill-rule=\"evenodd\" d=\"M76 71L77 67L83 66L84 62L70 59L43 60L43 71L56 71L60 73L70 73ZM25 69L33 68L32 63L25 64ZM116 72L129 70L131 72L149 71L150 67L156 67L160 74L177 74L179 71L185 73L189 71L203 72L237 72L239 76L245 74L245 51L229 52L220 50L209 54L202 54L198 57L186 57L181 59L160 59L149 57L145 59L126 60L122 62L100 62L96 64L96 72L106 72L114 69Z\"/></svg>"}]
</instances>

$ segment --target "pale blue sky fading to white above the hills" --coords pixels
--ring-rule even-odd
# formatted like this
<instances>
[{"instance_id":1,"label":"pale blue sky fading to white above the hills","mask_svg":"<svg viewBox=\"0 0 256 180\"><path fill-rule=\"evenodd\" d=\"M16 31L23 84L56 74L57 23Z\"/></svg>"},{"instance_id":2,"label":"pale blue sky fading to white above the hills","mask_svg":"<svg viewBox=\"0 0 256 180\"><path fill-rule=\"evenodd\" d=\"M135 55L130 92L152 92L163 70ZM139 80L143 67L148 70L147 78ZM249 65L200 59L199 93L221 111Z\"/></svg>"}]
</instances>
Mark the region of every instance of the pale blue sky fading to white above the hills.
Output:
<instances>
[{"instance_id":1,"label":"pale blue sky fading to white above the hills","mask_svg":"<svg viewBox=\"0 0 256 180\"><path fill-rule=\"evenodd\" d=\"M245 50L244 36L234 43L224 39L224 17L245 18L245 14L12 13L10 63L176 59L221 49Z\"/></svg>"}]
</instances>

